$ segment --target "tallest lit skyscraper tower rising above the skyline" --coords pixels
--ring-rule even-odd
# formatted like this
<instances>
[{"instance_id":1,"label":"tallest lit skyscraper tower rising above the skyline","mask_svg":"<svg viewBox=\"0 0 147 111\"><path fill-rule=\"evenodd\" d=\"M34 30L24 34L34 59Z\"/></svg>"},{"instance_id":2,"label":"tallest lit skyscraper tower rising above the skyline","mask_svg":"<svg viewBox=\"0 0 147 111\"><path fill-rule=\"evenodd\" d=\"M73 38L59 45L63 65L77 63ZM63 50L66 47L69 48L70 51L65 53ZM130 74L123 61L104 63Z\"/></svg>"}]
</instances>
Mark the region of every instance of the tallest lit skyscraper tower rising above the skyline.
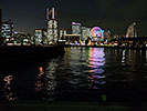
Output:
<instances>
[{"instance_id":1,"label":"tallest lit skyscraper tower rising above the skyline","mask_svg":"<svg viewBox=\"0 0 147 111\"><path fill-rule=\"evenodd\" d=\"M46 19L48 19L46 38L49 40L49 43L55 43L57 41L57 20L56 20L56 11L54 8L46 9Z\"/></svg>"}]
</instances>

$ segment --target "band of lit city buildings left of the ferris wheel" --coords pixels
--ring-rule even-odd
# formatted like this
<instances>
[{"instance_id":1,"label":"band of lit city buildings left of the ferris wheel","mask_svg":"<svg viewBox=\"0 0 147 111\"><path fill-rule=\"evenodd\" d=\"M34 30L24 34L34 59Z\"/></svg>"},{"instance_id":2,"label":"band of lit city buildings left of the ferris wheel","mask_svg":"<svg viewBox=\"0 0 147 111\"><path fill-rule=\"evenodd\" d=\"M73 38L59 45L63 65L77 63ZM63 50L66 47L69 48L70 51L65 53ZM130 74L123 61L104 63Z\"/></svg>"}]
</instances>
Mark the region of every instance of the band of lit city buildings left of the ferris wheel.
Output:
<instances>
[{"instance_id":1,"label":"band of lit city buildings left of the ferris wheel","mask_svg":"<svg viewBox=\"0 0 147 111\"><path fill-rule=\"evenodd\" d=\"M72 33L67 34L65 29L57 30L56 10L54 8L46 9L46 29L35 29L34 36L20 33L14 31L11 20L2 22L2 10L0 9L0 37L4 39L4 43L14 42L18 44L54 44L57 41L66 41L67 38L78 38L85 41L91 37L91 28L82 27L82 23L72 22ZM60 33L60 34L59 34Z\"/></svg>"}]
</instances>

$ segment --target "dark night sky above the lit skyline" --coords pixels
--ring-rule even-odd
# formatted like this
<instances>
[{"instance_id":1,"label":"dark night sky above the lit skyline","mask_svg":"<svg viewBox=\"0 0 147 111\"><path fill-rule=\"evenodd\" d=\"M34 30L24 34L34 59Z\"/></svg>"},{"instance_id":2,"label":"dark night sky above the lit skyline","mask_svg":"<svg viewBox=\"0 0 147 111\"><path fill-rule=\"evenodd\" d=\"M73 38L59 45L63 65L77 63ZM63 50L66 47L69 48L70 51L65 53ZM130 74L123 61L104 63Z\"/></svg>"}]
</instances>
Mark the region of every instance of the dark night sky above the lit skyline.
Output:
<instances>
[{"instance_id":1,"label":"dark night sky above the lit skyline","mask_svg":"<svg viewBox=\"0 0 147 111\"><path fill-rule=\"evenodd\" d=\"M0 0L3 21L11 18L15 30L23 32L45 28L45 9L53 6L60 28L70 30L71 22L77 21L112 33L126 33L135 21L138 34L147 37L147 0Z\"/></svg>"}]
</instances>

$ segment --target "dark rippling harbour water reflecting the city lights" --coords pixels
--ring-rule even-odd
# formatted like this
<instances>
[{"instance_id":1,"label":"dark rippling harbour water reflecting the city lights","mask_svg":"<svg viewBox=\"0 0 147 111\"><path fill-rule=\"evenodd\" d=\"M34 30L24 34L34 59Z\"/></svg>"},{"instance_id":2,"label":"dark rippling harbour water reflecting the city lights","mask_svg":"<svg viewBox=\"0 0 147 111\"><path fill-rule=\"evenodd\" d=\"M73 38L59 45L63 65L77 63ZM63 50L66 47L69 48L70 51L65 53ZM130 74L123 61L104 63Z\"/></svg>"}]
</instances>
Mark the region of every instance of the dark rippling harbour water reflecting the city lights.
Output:
<instances>
[{"instance_id":1,"label":"dark rippling harbour water reflecting the city lights","mask_svg":"<svg viewBox=\"0 0 147 111\"><path fill-rule=\"evenodd\" d=\"M0 68L0 101L147 102L147 51L65 50L45 62Z\"/></svg>"}]
</instances>

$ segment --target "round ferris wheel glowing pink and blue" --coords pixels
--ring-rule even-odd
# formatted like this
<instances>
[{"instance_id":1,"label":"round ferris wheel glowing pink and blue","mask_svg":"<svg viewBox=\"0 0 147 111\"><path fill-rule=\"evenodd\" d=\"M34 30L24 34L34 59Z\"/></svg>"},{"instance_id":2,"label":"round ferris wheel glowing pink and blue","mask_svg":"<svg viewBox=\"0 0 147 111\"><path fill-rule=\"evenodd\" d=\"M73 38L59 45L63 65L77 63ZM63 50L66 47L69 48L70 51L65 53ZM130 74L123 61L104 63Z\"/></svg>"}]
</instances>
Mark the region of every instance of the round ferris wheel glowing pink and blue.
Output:
<instances>
[{"instance_id":1,"label":"round ferris wheel glowing pink and blue","mask_svg":"<svg viewBox=\"0 0 147 111\"><path fill-rule=\"evenodd\" d=\"M99 27L94 27L91 30L91 34L92 34L92 37L104 38L104 30L102 30Z\"/></svg>"}]
</instances>

